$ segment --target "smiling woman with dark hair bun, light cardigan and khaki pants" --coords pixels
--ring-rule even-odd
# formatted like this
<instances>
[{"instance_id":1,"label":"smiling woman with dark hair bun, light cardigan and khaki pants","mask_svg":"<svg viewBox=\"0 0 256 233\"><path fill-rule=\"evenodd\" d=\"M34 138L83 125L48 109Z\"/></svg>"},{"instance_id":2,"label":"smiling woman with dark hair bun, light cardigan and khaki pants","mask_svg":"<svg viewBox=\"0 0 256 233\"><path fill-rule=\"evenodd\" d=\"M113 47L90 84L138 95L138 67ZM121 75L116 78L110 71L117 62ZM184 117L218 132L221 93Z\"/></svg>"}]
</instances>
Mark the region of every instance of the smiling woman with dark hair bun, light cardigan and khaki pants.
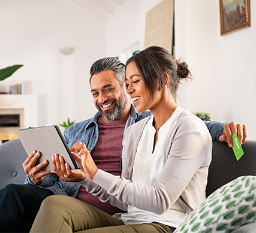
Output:
<instances>
[{"instance_id":1,"label":"smiling woman with dark hair bun, light cardigan and khaki pants","mask_svg":"<svg viewBox=\"0 0 256 233\"><path fill-rule=\"evenodd\" d=\"M149 109L152 116L129 127L121 178L99 170L85 144L73 146L81 156L73 154L83 170L81 184L127 213L110 216L85 202L50 196L31 232L173 232L184 222L205 199L212 151L206 125L175 102L180 80L189 74L185 62L161 47L128 59L127 93L137 111Z\"/></svg>"}]
</instances>

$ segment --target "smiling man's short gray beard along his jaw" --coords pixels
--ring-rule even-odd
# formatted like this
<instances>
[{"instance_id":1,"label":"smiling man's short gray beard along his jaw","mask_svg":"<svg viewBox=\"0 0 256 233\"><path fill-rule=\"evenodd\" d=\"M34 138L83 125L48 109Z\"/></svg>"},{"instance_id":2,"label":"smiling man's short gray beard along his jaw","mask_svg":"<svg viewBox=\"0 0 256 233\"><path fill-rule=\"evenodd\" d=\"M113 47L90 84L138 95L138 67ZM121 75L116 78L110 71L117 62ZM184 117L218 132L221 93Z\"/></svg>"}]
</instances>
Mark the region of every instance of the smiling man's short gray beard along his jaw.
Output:
<instances>
[{"instance_id":1,"label":"smiling man's short gray beard along his jaw","mask_svg":"<svg viewBox=\"0 0 256 233\"><path fill-rule=\"evenodd\" d=\"M101 109L100 109L100 113L101 113L101 116L103 116L106 120L113 122L119 119L119 117L122 115L126 106L127 106L127 98L125 96L125 93L122 93L122 95L119 98L119 105L117 104L115 105L113 113L103 112Z\"/></svg>"}]
</instances>

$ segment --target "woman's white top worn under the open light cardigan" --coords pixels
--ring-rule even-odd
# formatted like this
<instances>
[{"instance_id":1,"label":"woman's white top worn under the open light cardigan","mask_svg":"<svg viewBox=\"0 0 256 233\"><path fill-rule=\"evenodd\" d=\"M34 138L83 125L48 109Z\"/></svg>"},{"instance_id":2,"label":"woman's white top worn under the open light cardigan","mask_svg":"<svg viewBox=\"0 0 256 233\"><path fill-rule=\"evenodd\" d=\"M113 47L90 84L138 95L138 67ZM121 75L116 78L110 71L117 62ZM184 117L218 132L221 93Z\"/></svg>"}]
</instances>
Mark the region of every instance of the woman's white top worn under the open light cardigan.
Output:
<instances>
[{"instance_id":1,"label":"woman's white top worn under the open light cardigan","mask_svg":"<svg viewBox=\"0 0 256 233\"><path fill-rule=\"evenodd\" d=\"M170 132L182 112L183 109L177 107L167 122L161 126L154 151L153 143L156 130L153 127L153 116L150 117L138 143L133 165L132 183L149 186L155 183L156 178L158 178L163 168L165 145L170 140ZM120 220L125 224L160 222L165 225L177 227L184 222L187 216L186 211L176 201L161 215L151 211L139 210L132 205L128 205L128 213L122 214Z\"/></svg>"}]
</instances>

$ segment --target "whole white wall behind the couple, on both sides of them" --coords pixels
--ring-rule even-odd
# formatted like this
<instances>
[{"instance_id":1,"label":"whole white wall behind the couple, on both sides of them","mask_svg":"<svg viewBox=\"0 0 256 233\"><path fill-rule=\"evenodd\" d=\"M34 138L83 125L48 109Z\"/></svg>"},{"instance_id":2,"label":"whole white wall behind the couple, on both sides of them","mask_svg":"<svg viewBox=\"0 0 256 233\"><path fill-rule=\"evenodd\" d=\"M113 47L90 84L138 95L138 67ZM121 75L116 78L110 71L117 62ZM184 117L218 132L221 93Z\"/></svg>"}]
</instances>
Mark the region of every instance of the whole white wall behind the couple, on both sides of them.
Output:
<instances>
[{"instance_id":1,"label":"whole white wall behind the couple, on both sides of them","mask_svg":"<svg viewBox=\"0 0 256 233\"><path fill-rule=\"evenodd\" d=\"M125 52L143 49L146 12L159 2L125 0L103 21L66 0L1 0L0 68L25 66L0 86L31 83L42 106L40 125L91 117L96 111L88 84L92 62L104 56L125 62ZM219 1L175 1L175 55L194 75L180 87L179 104L209 112L212 120L245 123L251 139L256 139L255 15L251 1L252 26L221 36ZM62 46L76 49L64 56Z\"/></svg>"}]
</instances>

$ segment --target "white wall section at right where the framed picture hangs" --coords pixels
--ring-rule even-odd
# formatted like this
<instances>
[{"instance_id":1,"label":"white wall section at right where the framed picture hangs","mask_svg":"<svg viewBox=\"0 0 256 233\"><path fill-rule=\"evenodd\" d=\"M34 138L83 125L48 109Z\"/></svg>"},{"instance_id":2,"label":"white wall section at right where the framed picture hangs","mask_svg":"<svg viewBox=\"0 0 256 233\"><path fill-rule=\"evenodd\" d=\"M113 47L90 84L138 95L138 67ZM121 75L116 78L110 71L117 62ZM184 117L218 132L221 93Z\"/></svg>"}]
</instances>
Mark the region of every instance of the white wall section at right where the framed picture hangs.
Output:
<instances>
[{"instance_id":1,"label":"white wall section at right where the framed picture hangs","mask_svg":"<svg viewBox=\"0 0 256 233\"><path fill-rule=\"evenodd\" d=\"M185 55L194 74L186 85L186 108L209 112L212 120L245 123L248 138L256 139L256 2L251 27L224 36L218 1L176 1L175 10L176 55Z\"/></svg>"}]
</instances>

